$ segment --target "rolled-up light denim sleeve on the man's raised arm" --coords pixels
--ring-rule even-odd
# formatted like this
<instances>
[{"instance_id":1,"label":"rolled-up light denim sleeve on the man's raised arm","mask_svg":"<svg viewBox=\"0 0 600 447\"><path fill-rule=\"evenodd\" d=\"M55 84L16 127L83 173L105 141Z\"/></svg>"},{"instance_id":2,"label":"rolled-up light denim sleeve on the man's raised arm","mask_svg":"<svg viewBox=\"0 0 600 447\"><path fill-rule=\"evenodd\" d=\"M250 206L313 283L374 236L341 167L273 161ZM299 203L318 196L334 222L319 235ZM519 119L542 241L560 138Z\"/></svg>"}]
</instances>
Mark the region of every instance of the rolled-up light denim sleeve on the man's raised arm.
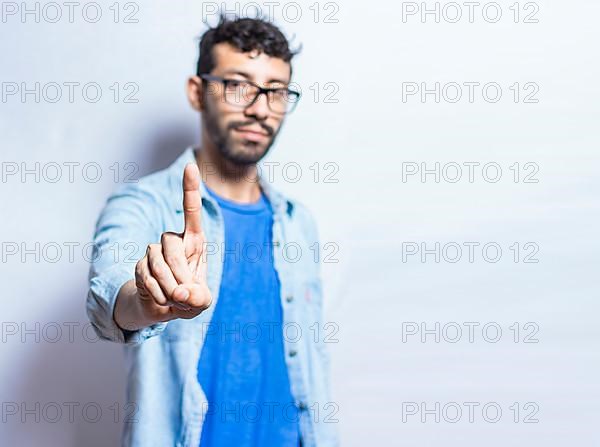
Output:
<instances>
[{"instance_id":1,"label":"rolled-up light denim sleeve on the man's raised arm","mask_svg":"<svg viewBox=\"0 0 600 447\"><path fill-rule=\"evenodd\" d=\"M96 223L86 311L98 337L137 344L162 332L167 323L122 330L113 318L121 286L135 277L135 265L146 247L160 238L156 197L143 185L121 186L108 199Z\"/></svg>"}]
</instances>

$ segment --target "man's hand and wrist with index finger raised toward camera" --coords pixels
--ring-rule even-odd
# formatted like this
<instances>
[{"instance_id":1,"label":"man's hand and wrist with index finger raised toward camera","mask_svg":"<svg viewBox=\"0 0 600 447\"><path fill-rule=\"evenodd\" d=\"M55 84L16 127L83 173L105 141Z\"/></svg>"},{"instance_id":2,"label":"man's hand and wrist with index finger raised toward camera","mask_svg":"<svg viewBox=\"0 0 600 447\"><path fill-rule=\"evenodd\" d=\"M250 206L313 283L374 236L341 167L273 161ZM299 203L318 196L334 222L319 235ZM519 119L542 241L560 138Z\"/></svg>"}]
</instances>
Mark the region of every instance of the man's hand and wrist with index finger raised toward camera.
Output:
<instances>
[{"instance_id":1,"label":"man's hand and wrist with index finger raised toward camera","mask_svg":"<svg viewBox=\"0 0 600 447\"><path fill-rule=\"evenodd\" d=\"M183 173L183 233L163 233L136 264L135 281L121 288L115 306L114 318L122 328L193 318L210 306L199 188L198 165L190 163Z\"/></svg>"}]
</instances>

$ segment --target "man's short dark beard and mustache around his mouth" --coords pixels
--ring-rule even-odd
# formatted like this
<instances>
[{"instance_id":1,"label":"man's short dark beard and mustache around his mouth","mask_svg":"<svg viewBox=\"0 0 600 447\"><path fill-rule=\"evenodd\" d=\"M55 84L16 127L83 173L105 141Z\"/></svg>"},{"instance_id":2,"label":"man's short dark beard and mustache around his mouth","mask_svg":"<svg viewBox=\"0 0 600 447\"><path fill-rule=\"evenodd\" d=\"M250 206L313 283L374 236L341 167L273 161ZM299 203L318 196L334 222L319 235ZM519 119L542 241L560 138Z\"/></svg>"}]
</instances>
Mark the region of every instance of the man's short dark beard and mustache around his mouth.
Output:
<instances>
[{"instance_id":1,"label":"man's short dark beard and mustache around his mouth","mask_svg":"<svg viewBox=\"0 0 600 447\"><path fill-rule=\"evenodd\" d=\"M215 147L221 156L235 166L245 167L255 165L262 160L273 143L279 130L275 131L271 126L257 120L232 121L227 124L223 130L219 127L216 113L206 110L206 130L215 144ZM235 138L234 130L239 127L258 124L268 135L269 139L265 143L258 143L249 140L238 140Z\"/></svg>"}]
</instances>

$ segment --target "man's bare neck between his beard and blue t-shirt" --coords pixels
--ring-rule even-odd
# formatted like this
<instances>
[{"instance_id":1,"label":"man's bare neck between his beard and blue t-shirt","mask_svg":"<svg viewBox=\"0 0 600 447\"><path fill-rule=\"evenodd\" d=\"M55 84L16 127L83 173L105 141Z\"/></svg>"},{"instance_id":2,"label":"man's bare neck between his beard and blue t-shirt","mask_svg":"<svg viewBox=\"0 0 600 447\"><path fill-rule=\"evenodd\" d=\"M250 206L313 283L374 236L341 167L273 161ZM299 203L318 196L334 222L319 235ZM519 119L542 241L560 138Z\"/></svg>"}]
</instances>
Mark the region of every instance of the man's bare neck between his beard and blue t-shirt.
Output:
<instances>
[{"instance_id":1,"label":"man's bare neck between his beard and blue t-shirt","mask_svg":"<svg viewBox=\"0 0 600 447\"><path fill-rule=\"evenodd\" d=\"M202 181L219 196L238 203L260 199L256 165L234 165L209 147L196 148L194 154Z\"/></svg>"}]
</instances>

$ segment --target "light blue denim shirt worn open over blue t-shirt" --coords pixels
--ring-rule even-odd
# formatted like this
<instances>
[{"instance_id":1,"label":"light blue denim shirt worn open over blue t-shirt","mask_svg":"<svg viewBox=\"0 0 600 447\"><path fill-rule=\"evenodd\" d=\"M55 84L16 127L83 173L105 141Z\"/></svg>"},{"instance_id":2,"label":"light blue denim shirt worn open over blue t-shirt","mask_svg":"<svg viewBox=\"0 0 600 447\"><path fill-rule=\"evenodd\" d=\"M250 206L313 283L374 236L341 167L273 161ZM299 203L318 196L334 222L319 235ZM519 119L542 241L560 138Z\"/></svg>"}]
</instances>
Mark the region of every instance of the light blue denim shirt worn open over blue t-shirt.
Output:
<instances>
[{"instance_id":1,"label":"light blue denim shirt worn open over blue t-shirt","mask_svg":"<svg viewBox=\"0 0 600 447\"><path fill-rule=\"evenodd\" d=\"M136 331L121 330L113 319L117 294L134 278L135 265L148 244L158 243L166 231L183 231L183 170L195 161L190 147L168 168L121 186L109 197L96 225L87 314L99 337L125 344L127 403L135 408L125 421L125 446L200 445L208 402L196 370L206 333L214 330L210 321L224 260L222 213L203 182L201 219L211 307L190 320ZM303 204L284 197L262 177L258 181L273 207L271 249L281 284L280 329L291 391L300 410L302 445L337 446L338 407L330 397L317 227ZM244 409L239 411L244 417ZM262 417L267 416L265 411Z\"/></svg>"}]
</instances>

